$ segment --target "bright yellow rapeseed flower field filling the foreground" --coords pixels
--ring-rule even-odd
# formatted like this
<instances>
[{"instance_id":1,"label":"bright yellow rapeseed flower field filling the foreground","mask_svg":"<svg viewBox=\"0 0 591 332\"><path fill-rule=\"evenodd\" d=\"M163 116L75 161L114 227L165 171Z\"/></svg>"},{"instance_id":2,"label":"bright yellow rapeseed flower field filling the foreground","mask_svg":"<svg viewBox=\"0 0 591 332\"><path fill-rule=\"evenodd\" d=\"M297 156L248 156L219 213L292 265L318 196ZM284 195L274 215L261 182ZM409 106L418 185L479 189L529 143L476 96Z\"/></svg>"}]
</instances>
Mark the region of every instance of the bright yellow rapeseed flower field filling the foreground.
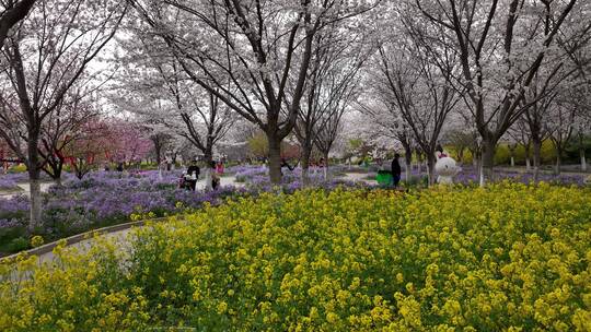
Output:
<instances>
[{"instance_id":1,"label":"bright yellow rapeseed flower field filling the foreground","mask_svg":"<svg viewBox=\"0 0 591 332\"><path fill-rule=\"evenodd\" d=\"M591 331L590 239L589 188L241 198L0 266L0 331Z\"/></svg>"}]
</instances>

